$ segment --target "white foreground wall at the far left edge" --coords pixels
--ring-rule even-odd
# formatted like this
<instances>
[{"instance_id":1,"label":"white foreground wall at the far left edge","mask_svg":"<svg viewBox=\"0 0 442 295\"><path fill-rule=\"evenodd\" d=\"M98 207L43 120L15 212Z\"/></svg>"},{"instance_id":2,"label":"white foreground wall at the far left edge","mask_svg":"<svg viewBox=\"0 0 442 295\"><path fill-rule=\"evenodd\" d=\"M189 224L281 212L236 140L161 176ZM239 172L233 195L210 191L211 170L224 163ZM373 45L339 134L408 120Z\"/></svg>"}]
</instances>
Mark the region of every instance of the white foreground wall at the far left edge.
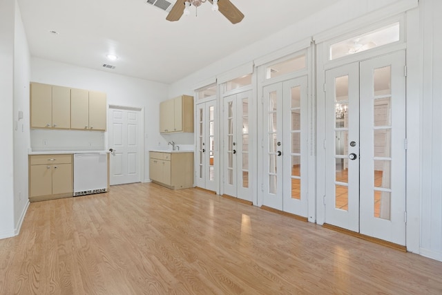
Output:
<instances>
[{"instance_id":1,"label":"white foreground wall at the far left edge","mask_svg":"<svg viewBox=\"0 0 442 295\"><path fill-rule=\"evenodd\" d=\"M14 236L14 26L15 0L0 1L0 238Z\"/></svg>"}]
</instances>

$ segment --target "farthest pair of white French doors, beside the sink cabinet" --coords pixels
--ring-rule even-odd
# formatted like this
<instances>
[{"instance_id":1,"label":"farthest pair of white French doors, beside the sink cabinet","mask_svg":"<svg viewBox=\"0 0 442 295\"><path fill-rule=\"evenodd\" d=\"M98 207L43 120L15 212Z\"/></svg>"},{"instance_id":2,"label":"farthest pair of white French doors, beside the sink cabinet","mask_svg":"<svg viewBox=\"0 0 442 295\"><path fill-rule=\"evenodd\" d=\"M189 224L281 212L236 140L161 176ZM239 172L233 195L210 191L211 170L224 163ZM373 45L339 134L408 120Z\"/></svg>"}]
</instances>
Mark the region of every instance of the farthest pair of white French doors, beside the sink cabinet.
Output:
<instances>
[{"instance_id":1,"label":"farthest pair of white French doors, beside the sink cabinet","mask_svg":"<svg viewBox=\"0 0 442 295\"><path fill-rule=\"evenodd\" d=\"M216 191L215 113L216 100L196 105L196 181L197 187Z\"/></svg>"}]
</instances>

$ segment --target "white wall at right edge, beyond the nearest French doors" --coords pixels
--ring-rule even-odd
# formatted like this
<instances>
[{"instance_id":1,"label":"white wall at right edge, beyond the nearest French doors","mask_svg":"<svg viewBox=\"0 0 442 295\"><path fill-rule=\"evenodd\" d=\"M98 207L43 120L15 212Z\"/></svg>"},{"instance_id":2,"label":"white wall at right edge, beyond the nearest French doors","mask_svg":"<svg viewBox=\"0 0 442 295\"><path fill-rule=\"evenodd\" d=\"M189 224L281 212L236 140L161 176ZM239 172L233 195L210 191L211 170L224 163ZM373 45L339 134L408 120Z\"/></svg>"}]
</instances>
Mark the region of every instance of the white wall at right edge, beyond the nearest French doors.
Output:
<instances>
[{"instance_id":1,"label":"white wall at right edge, beyond the nearest French doors","mask_svg":"<svg viewBox=\"0 0 442 295\"><path fill-rule=\"evenodd\" d=\"M421 254L442 260L442 1L421 0ZM416 114L417 115L417 114Z\"/></svg>"}]
</instances>

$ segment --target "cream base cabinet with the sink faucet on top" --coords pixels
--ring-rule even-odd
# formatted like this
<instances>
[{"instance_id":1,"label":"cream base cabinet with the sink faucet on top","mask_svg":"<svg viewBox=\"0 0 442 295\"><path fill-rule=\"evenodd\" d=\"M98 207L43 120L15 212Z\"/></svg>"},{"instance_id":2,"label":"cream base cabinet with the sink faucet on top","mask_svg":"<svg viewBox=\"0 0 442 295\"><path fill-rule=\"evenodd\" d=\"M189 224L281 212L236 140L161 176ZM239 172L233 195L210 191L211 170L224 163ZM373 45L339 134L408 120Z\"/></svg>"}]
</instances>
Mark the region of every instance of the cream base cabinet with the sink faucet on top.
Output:
<instances>
[{"instance_id":1,"label":"cream base cabinet with the sink faucet on top","mask_svg":"<svg viewBox=\"0 0 442 295\"><path fill-rule=\"evenodd\" d=\"M149 175L169 189L193 187L193 152L149 153Z\"/></svg>"}]
</instances>

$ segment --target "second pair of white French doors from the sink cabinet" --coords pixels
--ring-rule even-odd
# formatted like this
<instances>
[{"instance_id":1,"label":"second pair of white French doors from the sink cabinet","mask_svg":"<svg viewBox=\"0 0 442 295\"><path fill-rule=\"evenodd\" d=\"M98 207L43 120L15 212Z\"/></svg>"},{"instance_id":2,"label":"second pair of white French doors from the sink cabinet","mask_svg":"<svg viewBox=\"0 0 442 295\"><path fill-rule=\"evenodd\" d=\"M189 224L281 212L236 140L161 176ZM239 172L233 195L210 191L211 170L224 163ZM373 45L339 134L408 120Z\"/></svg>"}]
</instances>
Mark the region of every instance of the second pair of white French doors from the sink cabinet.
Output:
<instances>
[{"instance_id":1,"label":"second pair of white French doors from the sink cabinet","mask_svg":"<svg viewBox=\"0 0 442 295\"><path fill-rule=\"evenodd\" d=\"M252 201L249 180L249 106L251 91L224 97L223 193Z\"/></svg>"}]
</instances>

